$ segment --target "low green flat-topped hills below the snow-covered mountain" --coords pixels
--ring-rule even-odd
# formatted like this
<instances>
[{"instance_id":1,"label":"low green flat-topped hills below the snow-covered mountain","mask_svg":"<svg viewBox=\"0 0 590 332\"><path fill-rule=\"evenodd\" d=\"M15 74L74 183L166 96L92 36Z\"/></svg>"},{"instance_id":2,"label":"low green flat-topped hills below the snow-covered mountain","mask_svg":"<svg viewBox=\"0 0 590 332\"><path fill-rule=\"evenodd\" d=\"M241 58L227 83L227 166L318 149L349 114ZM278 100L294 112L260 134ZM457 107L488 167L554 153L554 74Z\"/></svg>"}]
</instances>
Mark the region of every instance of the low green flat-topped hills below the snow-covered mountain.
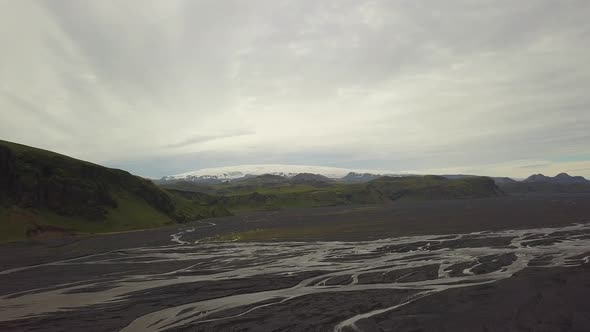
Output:
<instances>
[{"instance_id":1,"label":"low green flat-topped hills below the snow-covered mountain","mask_svg":"<svg viewBox=\"0 0 590 332\"><path fill-rule=\"evenodd\" d=\"M214 203L233 213L296 207L382 204L407 199L461 199L502 195L494 181L486 177L447 179L440 176L382 177L367 183L298 184L288 180L265 182L249 179L246 183L219 185L181 182L168 188L199 192L214 198Z\"/></svg>"}]
</instances>

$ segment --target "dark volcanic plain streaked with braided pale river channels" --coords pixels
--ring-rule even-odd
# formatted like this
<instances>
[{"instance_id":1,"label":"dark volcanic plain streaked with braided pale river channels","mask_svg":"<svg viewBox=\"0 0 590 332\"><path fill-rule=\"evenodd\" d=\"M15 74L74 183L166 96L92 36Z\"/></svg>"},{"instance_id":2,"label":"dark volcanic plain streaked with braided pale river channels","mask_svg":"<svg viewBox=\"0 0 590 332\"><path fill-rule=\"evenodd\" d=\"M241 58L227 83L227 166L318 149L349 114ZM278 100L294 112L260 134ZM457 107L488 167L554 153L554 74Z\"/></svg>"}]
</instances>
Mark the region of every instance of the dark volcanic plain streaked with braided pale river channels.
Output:
<instances>
[{"instance_id":1,"label":"dark volcanic plain streaked with braided pale river channels","mask_svg":"<svg viewBox=\"0 0 590 332\"><path fill-rule=\"evenodd\" d=\"M523 194L7 244L0 330L588 331L589 222Z\"/></svg>"}]
</instances>

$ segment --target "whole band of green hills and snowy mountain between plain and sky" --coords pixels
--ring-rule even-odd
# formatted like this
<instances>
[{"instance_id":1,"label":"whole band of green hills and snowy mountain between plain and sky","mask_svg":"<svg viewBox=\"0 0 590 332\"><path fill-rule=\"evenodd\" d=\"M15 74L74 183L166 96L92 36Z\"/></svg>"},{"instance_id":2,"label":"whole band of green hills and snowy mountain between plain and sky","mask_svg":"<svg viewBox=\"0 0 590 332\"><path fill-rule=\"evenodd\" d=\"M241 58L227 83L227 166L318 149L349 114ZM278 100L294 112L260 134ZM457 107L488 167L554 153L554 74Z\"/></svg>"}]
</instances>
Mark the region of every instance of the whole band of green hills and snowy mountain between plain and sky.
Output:
<instances>
[{"instance_id":1,"label":"whole band of green hills and snowy mountain between plain and sky","mask_svg":"<svg viewBox=\"0 0 590 332\"><path fill-rule=\"evenodd\" d=\"M154 183L124 170L0 141L0 241L145 229L269 209L590 192L590 181L565 173L535 174L524 181L390 173L246 165Z\"/></svg>"}]
</instances>

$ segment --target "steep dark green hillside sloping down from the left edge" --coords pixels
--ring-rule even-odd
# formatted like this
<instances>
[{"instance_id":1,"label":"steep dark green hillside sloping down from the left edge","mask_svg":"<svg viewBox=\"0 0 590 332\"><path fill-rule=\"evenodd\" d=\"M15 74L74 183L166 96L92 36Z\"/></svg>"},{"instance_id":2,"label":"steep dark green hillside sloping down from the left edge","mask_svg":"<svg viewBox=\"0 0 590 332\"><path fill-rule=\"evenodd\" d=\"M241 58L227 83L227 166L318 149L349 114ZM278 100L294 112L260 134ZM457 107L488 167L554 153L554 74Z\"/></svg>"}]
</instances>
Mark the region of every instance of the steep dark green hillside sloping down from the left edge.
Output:
<instances>
[{"instance_id":1,"label":"steep dark green hillside sloping down from the left edge","mask_svg":"<svg viewBox=\"0 0 590 332\"><path fill-rule=\"evenodd\" d=\"M0 141L0 241L228 215L128 172Z\"/></svg>"}]
</instances>

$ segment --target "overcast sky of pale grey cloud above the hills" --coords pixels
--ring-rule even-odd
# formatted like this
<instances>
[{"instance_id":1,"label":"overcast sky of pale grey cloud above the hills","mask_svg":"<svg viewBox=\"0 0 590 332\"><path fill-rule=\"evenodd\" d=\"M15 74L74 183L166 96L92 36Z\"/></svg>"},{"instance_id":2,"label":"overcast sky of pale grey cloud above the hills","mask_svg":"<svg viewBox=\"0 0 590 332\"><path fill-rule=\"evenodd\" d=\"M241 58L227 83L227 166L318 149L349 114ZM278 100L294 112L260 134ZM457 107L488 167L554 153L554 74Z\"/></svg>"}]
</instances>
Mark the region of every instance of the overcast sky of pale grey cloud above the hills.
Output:
<instances>
[{"instance_id":1,"label":"overcast sky of pale grey cloud above the hills","mask_svg":"<svg viewBox=\"0 0 590 332\"><path fill-rule=\"evenodd\" d=\"M587 0L7 0L0 139L240 164L590 177Z\"/></svg>"}]
</instances>

